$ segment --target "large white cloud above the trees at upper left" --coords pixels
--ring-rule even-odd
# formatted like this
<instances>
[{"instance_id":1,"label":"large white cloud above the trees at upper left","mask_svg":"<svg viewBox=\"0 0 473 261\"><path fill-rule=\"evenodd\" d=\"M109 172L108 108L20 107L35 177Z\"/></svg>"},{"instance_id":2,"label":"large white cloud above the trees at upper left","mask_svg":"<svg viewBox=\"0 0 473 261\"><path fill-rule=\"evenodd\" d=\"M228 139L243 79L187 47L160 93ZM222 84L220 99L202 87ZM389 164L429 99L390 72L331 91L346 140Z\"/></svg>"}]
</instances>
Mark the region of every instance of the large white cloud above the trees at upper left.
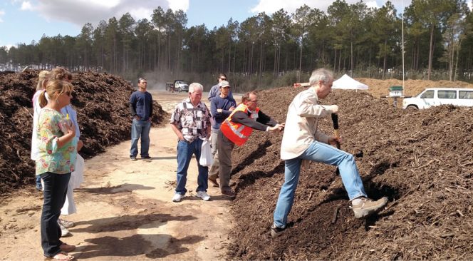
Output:
<instances>
[{"instance_id":1,"label":"large white cloud above the trees at upper left","mask_svg":"<svg viewBox=\"0 0 473 261\"><path fill-rule=\"evenodd\" d=\"M96 26L100 20L118 20L130 13L134 19L151 19L152 11L161 6L167 10L171 5L187 11L189 0L38 0L36 10L48 21L68 21L78 26L86 23ZM170 4L172 2L172 4ZM187 6L187 7L186 7Z\"/></svg>"}]
</instances>

